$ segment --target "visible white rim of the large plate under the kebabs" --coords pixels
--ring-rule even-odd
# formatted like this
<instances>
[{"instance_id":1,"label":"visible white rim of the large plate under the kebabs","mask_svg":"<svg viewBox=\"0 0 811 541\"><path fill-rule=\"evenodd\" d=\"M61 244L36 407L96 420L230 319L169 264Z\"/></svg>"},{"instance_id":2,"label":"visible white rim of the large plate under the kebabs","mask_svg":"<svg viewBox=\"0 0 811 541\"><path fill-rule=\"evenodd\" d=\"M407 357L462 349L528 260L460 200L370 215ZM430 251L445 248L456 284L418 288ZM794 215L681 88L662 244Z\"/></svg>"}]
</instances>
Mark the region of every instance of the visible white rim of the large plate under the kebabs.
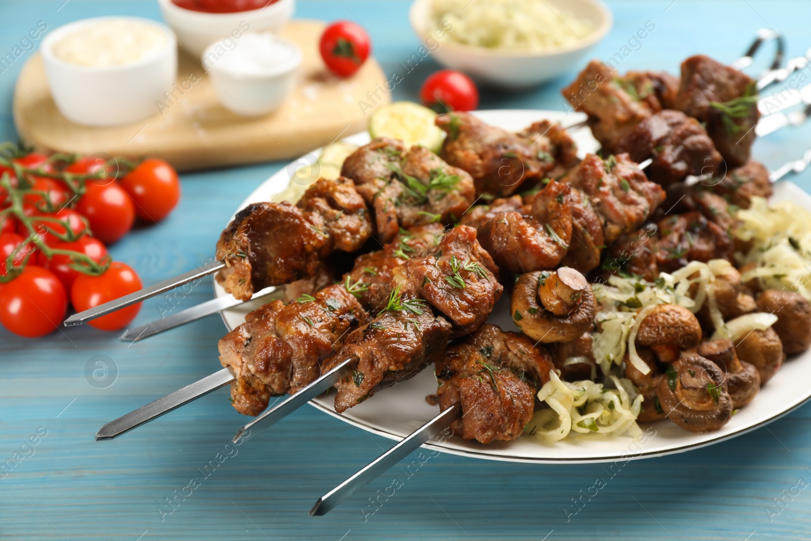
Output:
<instances>
[{"instance_id":1,"label":"visible white rim of the large plate under the kebabs","mask_svg":"<svg viewBox=\"0 0 811 541\"><path fill-rule=\"evenodd\" d=\"M548 118L551 120L556 120L560 122L563 118L572 118L574 122L578 122L582 118L585 118L585 115L581 113L567 113L565 111L557 111L551 109L483 109L478 111L473 111L473 114L477 116L482 116L484 119L491 116L498 116L498 115L528 115L530 119L541 119L541 118ZM534 121L534 120L533 120ZM572 123L574 123L572 122ZM359 131L353 135L346 136L342 138L341 142L347 142L350 144L358 143L360 139L368 138L369 134L368 131ZM363 143L362 143L363 144ZM306 157L313 157L317 158L320 156L320 152L323 150L324 147L316 148L311 152L307 152L302 157L299 157L297 161L302 160ZM280 170L277 170L276 173L272 174L270 177L266 178L264 182L261 182L259 186L257 186L247 197L242 200L242 203L239 204L237 210L232 214L229 218L229 221L233 219L234 215L242 208L244 208L247 204L250 204L253 200L255 200L255 195L257 192L263 190L265 185L268 182L280 174L282 171L290 170L290 166L297 163L297 161L291 161L281 167ZM791 181L782 181L784 185L789 185L788 189L793 191L800 191L802 195L809 197L809 194L806 193L802 188L797 186L794 182ZM284 190L285 188L281 188ZM811 210L811 209L809 209ZM213 281L212 290L214 292L215 298L222 296L224 293L221 290L217 289L217 282ZM225 316L225 311L220 312L221 320L229 331L232 330L230 328L230 324ZM811 401L811 389L809 392L805 394L805 397L800 395L800 399L793 403L792 405L788 406L786 409L781 410L769 418L760 420L758 419L757 423L753 424L752 426L743 427L735 432L730 432L727 434L723 434L722 436L717 436L714 438L710 438L709 440L702 440L690 444L683 444L678 445L676 447L671 447L667 449L658 449L658 450L651 450L651 451L640 451L638 453L624 453L620 455L611 455L611 456L599 456L599 457L527 457L527 456L516 456L516 455L509 455L503 453L483 453L478 452L471 449L458 449L454 447L447 447L442 444L435 444L435 443L425 443L420 445L423 449L431 449L439 451L440 453L449 453L460 457L470 457L470 458L478 458L481 460L491 460L495 462L517 462L517 463L525 463L525 464L599 464L599 463L607 463L607 462L618 462L618 461L630 461L630 460L642 460L645 458L654 458L654 457L663 457L671 454L678 454L678 453L686 453L692 451L694 449L701 449L703 447L708 447L710 445L718 444L726 440L732 440L732 438L736 438L737 436L743 436L749 432L753 432L758 428L765 427L767 424L773 423L774 421L783 418L785 415L792 413L793 411L797 410L801 406L804 406L806 403ZM340 419L344 423L348 423L354 427L358 427L361 430L366 432L371 432L378 436L383 436L388 440L400 441L403 439L403 436L399 434L395 434L393 432L388 432L386 430L380 429L378 427L373 427L363 421L358 419L352 419L350 417L338 414L336 411L331 410L327 406L320 404L319 402L314 400L307 402L310 406L315 407L317 410L321 410L324 413L332 416L335 419ZM651 424L651 426L656 426L656 424ZM631 440L632 442L634 440Z\"/></svg>"}]
</instances>

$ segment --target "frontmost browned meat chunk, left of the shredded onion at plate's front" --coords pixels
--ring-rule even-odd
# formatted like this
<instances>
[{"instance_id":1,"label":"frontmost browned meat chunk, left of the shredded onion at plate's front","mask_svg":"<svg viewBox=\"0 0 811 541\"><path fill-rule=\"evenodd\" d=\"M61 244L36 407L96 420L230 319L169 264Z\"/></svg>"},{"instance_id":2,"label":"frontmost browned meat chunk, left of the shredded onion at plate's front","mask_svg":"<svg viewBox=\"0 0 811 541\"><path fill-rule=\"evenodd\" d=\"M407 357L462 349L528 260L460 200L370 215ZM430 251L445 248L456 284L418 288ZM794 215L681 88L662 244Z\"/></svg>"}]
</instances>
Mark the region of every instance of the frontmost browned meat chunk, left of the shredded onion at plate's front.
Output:
<instances>
[{"instance_id":1,"label":"frontmost browned meat chunk, left of the shredded onion at plate's front","mask_svg":"<svg viewBox=\"0 0 811 541\"><path fill-rule=\"evenodd\" d=\"M463 416L451 428L466 440L516 440L532 419L535 391L552 368L543 347L484 324L436 362L440 408L461 402Z\"/></svg>"}]
</instances>

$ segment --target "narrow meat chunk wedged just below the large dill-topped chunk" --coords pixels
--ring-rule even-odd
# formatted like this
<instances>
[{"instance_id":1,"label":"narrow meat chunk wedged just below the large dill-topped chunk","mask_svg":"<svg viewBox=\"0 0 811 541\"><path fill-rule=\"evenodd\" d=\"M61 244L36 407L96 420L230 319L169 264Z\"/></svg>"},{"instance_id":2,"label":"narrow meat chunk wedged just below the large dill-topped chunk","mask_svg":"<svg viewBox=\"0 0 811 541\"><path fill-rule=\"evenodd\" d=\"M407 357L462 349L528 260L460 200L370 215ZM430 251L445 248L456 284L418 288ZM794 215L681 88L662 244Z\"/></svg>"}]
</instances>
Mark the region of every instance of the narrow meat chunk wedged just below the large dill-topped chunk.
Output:
<instances>
[{"instance_id":1,"label":"narrow meat chunk wedged just below the large dill-topped chunk","mask_svg":"<svg viewBox=\"0 0 811 541\"><path fill-rule=\"evenodd\" d=\"M411 258L436 251L444 236L440 224L418 225L401 231L383 249L358 256L354 267L342 280L354 291L358 301L370 311L380 311L392 292L394 269Z\"/></svg>"}]
</instances>

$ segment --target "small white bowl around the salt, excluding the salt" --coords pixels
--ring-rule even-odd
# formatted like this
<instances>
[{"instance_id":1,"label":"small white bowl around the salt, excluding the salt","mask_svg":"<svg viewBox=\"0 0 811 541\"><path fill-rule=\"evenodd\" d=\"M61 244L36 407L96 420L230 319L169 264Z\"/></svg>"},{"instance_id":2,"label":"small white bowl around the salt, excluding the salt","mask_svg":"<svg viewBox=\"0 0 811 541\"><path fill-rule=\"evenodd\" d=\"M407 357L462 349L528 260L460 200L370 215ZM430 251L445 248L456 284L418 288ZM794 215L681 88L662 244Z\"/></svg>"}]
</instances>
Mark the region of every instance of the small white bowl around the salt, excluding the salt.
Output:
<instances>
[{"instance_id":1,"label":"small white bowl around the salt, excluding the salt","mask_svg":"<svg viewBox=\"0 0 811 541\"><path fill-rule=\"evenodd\" d=\"M247 39L262 39L262 34L251 34ZM296 72L302 63L302 52L298 45L292 41L272 36L277 45L288 49L290 57L276 66L264 68L260 71L240 71L234 69L234 62L229 54L236 51L240 54L249 44L242 42L234 49L225 49L223 41L215 41L208 45L203 52L204 67L208 70L208 77L214 85L220 103L236 114L253 116L269 113L290 96L296 80ZM242 38L243 40L246 38ZM217 51L225 49L224 54Z\"/></svg>"}]
</instances>

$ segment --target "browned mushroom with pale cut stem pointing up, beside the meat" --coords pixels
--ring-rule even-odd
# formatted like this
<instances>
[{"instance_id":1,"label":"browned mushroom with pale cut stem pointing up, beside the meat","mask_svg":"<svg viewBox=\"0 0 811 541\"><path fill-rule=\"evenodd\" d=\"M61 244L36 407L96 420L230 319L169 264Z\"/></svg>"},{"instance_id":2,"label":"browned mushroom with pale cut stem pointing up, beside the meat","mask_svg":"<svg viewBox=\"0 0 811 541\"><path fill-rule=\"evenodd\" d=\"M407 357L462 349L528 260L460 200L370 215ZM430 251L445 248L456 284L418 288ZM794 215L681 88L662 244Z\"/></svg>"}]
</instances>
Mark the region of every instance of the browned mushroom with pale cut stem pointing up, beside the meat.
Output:
<instances>
[{"instance_id":1,"label":"browned mushroom with pale cut stem pointing up, beside the meat","mask_svg":"<svg viewBox=\"0 0 811 541\"><path fill-rule=\"evenodd\" d=\"M586 277L561 267L521 275L513 288L510 311L528 337L543 344L568 342L589 328L597 301Z\"/></svg>"}]
</instances>

